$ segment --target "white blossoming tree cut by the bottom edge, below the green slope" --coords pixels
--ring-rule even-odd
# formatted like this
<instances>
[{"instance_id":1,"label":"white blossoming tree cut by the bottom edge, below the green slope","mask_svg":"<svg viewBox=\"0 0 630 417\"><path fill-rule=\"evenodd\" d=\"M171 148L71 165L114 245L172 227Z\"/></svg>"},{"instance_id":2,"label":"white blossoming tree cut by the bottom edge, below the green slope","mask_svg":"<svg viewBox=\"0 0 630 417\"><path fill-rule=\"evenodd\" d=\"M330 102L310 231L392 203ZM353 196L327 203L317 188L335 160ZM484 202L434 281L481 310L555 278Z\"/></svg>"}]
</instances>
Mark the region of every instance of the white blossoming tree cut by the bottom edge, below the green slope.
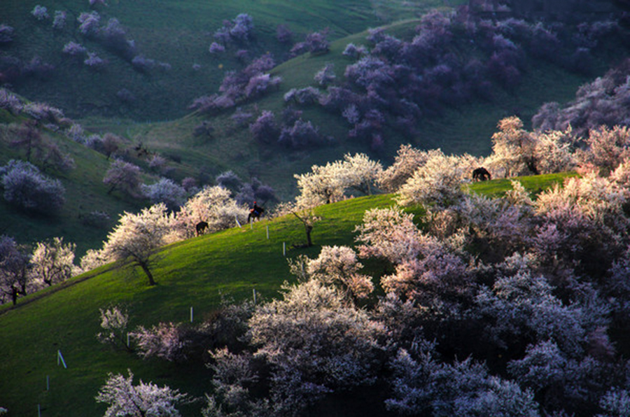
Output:
<instances>
[{"instance_id":1,"label":"white blossoming tree cut by the bottom edge, below the green slope","mask_svg":"<svg viewBox=\"0 0 630 417\"><path fill-rule=\"evenodd\" d=\"M134 385L134 374L108 374L108 379L95 397L97 402L109 404L104 417L179 417L176 404L189 402L187 394L169 386L158 387L140 380Z\"/></svg>"}]
</instances>

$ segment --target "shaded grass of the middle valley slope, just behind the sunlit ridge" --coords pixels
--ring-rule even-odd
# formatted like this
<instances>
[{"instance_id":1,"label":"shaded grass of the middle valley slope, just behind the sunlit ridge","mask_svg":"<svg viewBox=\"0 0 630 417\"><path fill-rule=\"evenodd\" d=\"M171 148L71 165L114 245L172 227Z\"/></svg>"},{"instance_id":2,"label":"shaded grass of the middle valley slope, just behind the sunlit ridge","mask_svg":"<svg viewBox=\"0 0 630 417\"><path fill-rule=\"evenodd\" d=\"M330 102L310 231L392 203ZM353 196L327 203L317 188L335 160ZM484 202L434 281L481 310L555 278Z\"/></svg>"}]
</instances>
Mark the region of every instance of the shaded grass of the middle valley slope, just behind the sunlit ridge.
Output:
<instances>
[{"instance_id":1,"label":"shaded grass of the middle valley slope, just behind the sunlit ridge","mask_svg":"<svg viewBox=\"0 0 630 417\"><path fill-rule=\"evenodd\" d=\"M388 26L388 31L404 37L412 33L418 20L397 22ZM242 104L244 111L254 117L263 109L273 111L280 120L285 108L283 95L291 88L316 86L314 74L325 64L334 64L337 79L342 80L346 65L353 61L342 55L350 42L365 43L367 32L353 34L332 42L330 52L325 55L302 55L277 66L273 75L281 76L279 90L258 100ZM603 59L601 73L605 72L607 59ZM295 195L293 174L310 170L313 164L325 164L342 159L345 153L367 153L374 160L391 164L401 143L411 143L416 148L442 148L445 153L471 153L489 155L491 136L497 131L501 118L519 115L529 128L529 120L538 108L548 101L565 103L575 97L577 88L588 78L563 71L558 66L545 62L532 61L524 73L521 85L514 92L497 92L492 102L479 101L464 104L459 108L444 111L442 117L423 121L417 136L402 136L399 132L388 131L384 135L384 149L373 153L363 143L347 138L349 126L337 115L323 111L320 106L301 106L304 120L311 120L322 134L335 138L332 146L321 146L300 151L283 151L274 146L260 146L251 139L247 127L236 127L230 117L233 110L200 118L189 115L173 122L159 124L139 124L127 129L126 134L146 143L158 153L181 155L181 164L176 168L180 176L200 176L204 171L211 176L231 169L241 178L258 177L278 191L281 199ZM195 138L193 130L202 120L209 120L214 127L210 138ZM92 127L112 128L111 125L95 123Z\"/></svg>"}]
</instances>

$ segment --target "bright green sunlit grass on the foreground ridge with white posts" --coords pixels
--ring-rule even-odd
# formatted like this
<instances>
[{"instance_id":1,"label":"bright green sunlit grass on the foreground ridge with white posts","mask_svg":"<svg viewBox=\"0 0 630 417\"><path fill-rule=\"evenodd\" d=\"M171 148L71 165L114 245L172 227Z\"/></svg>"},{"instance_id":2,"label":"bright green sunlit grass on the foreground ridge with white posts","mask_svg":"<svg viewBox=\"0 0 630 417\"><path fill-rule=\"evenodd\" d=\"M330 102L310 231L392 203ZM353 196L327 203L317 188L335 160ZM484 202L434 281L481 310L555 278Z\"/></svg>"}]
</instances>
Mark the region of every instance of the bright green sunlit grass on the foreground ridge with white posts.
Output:
<instances>
[{"instance_id":1,"label":"bright green sunlit grass on the foreground ridge with white posts","mask_svg":"<svg viewBox=\"0 0 630 417\"><path fill-rule=\"evenodd\" d=\"M536 191L564 176L524 177L519 181ZM472 185L472 190L492 195L509 189L508 181ZM323 245L351 246L356 236L354 227L363 213L391 204L391 195L376 195L318 207L316 214L321 221L314 227L311 248L290 248L290 243L305 241L303 225L295 216L263 220L253 227L233 228L164 248L154 269L158 281L155 287L147 285L141 271L104 267L92 271L93 278L74 278L80 282L56 292L50 290L45 297L32 302L21 299L22 305L16 309L3 306L0 406L7 407L10 416L34 415L38 404L43 416L99 416L105 407L93 397L107 373L126 374L127 369L132 369L136 381L167 384L202 397L210 389L211 376L199 364L176 366L141 360L132 353L99 344L94 337L100 330L98 310L114 302L127 305L133 329L159 322L186 322L191 306L198 323L218 308L222 297L244 299L251 297L253 289L266 299L276 297L281 283L292 280L287 257L316 257ZM283 243L288 247L286 257ZM58 350L67 369L57 365ZM50 390L46 390L47 376ZM199 416L201 407L193 404L183 410L183 415Z\"/></svg>"}]
</instances>

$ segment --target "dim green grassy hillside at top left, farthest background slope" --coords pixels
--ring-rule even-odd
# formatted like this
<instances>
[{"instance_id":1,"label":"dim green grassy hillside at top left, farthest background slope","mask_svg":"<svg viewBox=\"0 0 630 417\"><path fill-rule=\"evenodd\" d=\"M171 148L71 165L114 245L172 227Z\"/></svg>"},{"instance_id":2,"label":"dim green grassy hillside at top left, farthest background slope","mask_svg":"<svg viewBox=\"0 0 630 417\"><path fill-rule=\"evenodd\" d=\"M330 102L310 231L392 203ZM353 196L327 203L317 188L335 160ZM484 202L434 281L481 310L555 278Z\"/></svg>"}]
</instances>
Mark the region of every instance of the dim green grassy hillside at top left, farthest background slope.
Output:
<instances>
[{"instance_id":1,"label":"dim green grassy hillside at top left, farthest background slope","mask_svg":"<svg viewBox=\"0 0 630 417\"><path fill-rule=\"evenodd\" d=\"M22 78L15 83L15 89L29 99L64 108L73 118L108 115L134 120L172 120L186 114L186 108L200 91L216 90L225 70L241 67L234 57L237 50L249 50L252 57L269 51L276 59L285 59L291 45L276 41L278 24L286 24L295 33L294 41L302 41L309 31L324 27L330 28L331 38L339 38L368 27L416 17L429 8L444 6L445 2L108 0L106 3L107 6L91 8L87 0L2 1L0 23L15 28L15 40L0 47L0 57L16 57L22 62L39 57L55 66L47 78ZM449 2L451 6L461 3L465 1ZM36 5L48 8L50 19L38 22L31 15ZM62 30L52 29L55 10L67 13L66 27ZM167 62L171 69L135 71L129 59L79 34L76 17L91 10L101 15L102 25L116 17L127 32L126 38L135 41L139 54ZM234 19L239 13L253 17L253 40L232 45L221 55L209 54L214 32L223 20ZM71 59L62 53L69 41L82 43L109 63L102 71L88 69L82 64L83 58ZM193 64L199 64L200 69L193 70ZM123 88L134 94L134 102L117 99L116 93Z\"/></svg>"}]
</instances>

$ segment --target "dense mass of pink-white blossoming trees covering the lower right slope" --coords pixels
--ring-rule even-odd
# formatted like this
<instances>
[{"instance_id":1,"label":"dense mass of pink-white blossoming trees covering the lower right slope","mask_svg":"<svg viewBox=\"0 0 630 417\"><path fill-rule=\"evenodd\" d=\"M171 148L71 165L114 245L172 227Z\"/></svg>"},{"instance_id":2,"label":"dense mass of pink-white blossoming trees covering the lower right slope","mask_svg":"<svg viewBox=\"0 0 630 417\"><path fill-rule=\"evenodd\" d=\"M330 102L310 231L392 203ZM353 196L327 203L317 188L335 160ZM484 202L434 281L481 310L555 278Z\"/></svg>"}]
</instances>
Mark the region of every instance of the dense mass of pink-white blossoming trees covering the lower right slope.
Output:
<instances>
[{"instance_id":1,"label":"dense mass of pink-white blossoming trees covering the lower right slope","mask_svg":"<svg viewBox=\"0 0 630 417\"><path fill-rule=\"evenodd\" d=\"M630 130L580 141L526 132L517 118L498 127L485 160L402 146L387 169L346 155L297 176L297 206L365 184L395 192L400 206L366 211L353 247L291 260L297 280L280 299L226 305L194 328L139 327L138 352L181 362L209 350L204 416L296 416L374 387L387 415L626 415ZM512 180L491 198L465 191L481 163L497 177L582 175L536 196ZM404 208L417 204L421 218ZM118 316L102 311L104 323L126 323ZM127 393L146 385L131 379L111 375L97 399L127 407ZM162 389L169 407L186 400Z\"/></svg>"}]
</instances>

